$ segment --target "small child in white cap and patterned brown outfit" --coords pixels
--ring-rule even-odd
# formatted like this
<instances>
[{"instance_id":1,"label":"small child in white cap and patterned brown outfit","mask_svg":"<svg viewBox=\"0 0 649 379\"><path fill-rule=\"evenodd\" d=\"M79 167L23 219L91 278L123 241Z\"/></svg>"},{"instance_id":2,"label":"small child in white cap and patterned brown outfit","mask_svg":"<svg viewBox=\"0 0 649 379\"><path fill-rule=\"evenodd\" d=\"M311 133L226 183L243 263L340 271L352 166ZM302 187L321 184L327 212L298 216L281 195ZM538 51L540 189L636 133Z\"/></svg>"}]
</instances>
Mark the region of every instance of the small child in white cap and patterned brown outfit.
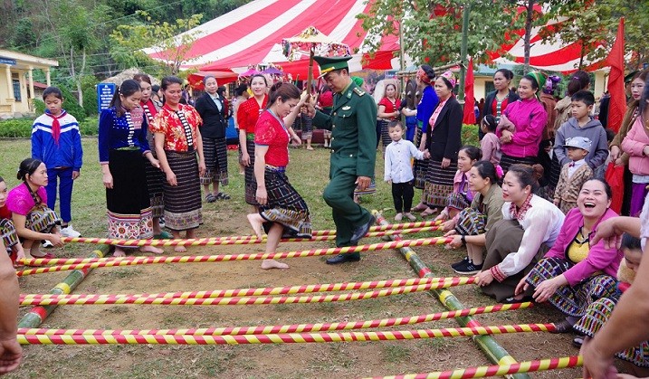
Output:
<instances>
[{"instance_id":1,"label":"small child in white cap and patterned brown outfit","mask_svg":"<svg viewBox=\"0 0 649 379\"><path fill-rule=\"evenodd\" d=\"M570 162L561 168L554 191L554 204L561 212L568 214L571 209L577 208L581 185L593 177L593 169L586 162L586 156L592 150L593 143L587 137L570 137L563 146L568 151Z\"/></svg>"}]
</instances>

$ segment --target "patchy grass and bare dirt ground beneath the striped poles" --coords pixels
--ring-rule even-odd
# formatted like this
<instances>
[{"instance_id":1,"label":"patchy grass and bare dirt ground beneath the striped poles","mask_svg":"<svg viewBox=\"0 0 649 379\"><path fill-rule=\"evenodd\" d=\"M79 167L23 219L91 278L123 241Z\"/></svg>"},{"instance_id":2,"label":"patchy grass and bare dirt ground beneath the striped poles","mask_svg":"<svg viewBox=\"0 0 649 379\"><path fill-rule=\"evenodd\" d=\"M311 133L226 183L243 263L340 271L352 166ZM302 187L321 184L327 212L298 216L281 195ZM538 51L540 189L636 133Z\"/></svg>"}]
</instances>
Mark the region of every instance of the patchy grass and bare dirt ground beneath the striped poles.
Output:
<instances>
[{"instance_id":1,"label":"patchy grass and bare dirt ground beneath the striped poles","mask_svg":"<svg viewBox=\"0 0 649 379\"><path fill-rule=\"evenodd\" d=\"M84 236L106 234L105 196L101 185L96 138L84 138L84 166L75 183L73 224ZM19 162L29 156L28 140L0 141L0 175L9 187L17 185L14 177ZM251 234L245 220L249 207L243 202L243 175L238 175L236 152L228 153L230 184L224 191L229 201L204 204L205 224L199 237ZM377 155L377 194L363 198L368 209L394 217L392 200L383 177L383 160ZM327 184L329 150L313 152L291 149L288 175L291 183L306 199L315 229L332 229L330 210L321 199ZM423 233L424 236L437 235ZM367 239L367 243L379 242ZM280 251L331 247L331 242L282 243ZM262 251L262 245L191 248L187 254L214 254ZM54 250L57 256L85 257L91 247L68 244ZM426 264L440 276L453 276L448 264L458 261L463 251L445 251L439 247L416 248ZM174 252L167 249L167 255ZM323 258L286 260L290 270L263 271L258 261L234 261L200 264L159 264L96 269L74 293L142 293L186 290L241 289L278 287L343 281L412 278L415 274L396 251L363 254L357 264L330 267ZM51 273L21 278L22 293L46 293L65 277ZM479 289L463 286L453 289L466 308L492 304ZM21 312L29 308L21 308ZM444 311L429 293L416 293L364 301L325 302L317 304L282 304L267 306L62 306L48 317L43 327L56 328L171 328L171 327L243 327L360 321L387 317L408 317ZM485 315L482 325L551 322L558 314L549 307ZM453 320L426 323L396 330L456 327ZM569 336L543 333L497 336L497 340L516 359L530 360L575 355ZM378 343L285 344L246 346L26 346L25 362L10 377L358 377L399 373L422 373L458 367L487 365L484 355L470 338L444 338ZM537 377L576 377L578 370L568 370Z\"/></svg>"}]
</instances>

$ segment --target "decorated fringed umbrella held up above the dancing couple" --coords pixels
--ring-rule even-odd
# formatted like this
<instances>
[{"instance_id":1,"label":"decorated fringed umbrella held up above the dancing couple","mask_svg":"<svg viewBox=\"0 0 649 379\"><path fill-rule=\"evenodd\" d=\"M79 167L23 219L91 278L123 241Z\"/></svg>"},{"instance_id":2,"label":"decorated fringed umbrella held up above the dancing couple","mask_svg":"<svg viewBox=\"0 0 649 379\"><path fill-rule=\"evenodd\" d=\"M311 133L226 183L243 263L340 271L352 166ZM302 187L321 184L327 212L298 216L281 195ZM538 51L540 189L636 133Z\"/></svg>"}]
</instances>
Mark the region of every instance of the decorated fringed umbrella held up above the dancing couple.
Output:
<instances>
[{"instance_id":1,"label":"decorated fringed umbrella held up above the dancing couple","mask_svg":"<svg viewBox=\"0 0 649 379\"><path fill-rule=\"evenodd\" d=\"M294 37L283 39L282 51L289 61L299 60L303 55L309 55L308 89L311 88L313 80L313 56L316 52L318 55L327 56L351 55L348 45L334 41L326 34L320 33L315 26L309 26Z\"/></svg>"}]
</instances>

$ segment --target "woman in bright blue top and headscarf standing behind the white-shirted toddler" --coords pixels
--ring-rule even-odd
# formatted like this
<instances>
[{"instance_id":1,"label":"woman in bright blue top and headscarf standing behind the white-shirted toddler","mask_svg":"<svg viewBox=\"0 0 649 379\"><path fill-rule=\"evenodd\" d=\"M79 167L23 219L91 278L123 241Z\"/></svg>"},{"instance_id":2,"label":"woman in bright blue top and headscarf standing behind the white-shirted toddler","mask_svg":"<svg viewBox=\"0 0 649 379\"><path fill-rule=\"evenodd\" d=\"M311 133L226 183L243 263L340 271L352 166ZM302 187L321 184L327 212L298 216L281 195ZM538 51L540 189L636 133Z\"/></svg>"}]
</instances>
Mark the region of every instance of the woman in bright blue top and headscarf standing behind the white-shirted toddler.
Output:
<instances>
[{"instance_id":1,"label":"woman in bright blue top and headscarf standing behind the white-shirted toddler","mask_svg":"<svg viewBox=\"0 0 649 379\"><path fill-rule=\"evenodd\" d=\"M435 107L437 107L437 104L439 104L439 99L437 98L437 94L433 89L433 80L433 68L427 64L422 64L415 75L417 88L421 91L422 94L422 97L419 100L416 109L418 128L415 137L415 146L418 145L419 150L421 151L424 151L426 148L425 133L428 130L428 120L431 118L431 115L433 115L433 111ZM415 171L415 188L424 191L422 192L421 202L415 205L412 210L415 212L422 212L422 216L429 216L434 213L434 210L429 208L425 204L425 179L426 172L428 171L428 163L429 159L415 160L415 166L413 168L413 170Z\"/></svg>"}]
</instances>

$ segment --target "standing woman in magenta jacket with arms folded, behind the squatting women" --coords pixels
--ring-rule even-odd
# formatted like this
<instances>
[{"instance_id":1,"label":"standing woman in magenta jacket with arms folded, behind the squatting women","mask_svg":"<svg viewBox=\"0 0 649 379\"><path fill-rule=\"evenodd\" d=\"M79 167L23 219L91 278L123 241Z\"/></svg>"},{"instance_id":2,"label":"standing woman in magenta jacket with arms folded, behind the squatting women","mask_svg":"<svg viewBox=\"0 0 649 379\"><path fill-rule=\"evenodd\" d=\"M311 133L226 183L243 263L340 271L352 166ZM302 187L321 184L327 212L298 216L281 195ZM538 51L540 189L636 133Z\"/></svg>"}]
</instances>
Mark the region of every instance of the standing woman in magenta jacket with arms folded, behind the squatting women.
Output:
<instances>
[{"instance_id":1,"label":"standing woman in magenta jacket with arms folded, behind the squatting women","mask_svg":"<svg viewBox=\"0 0 649 379\"><path fill-rule=\"evenodd\" d=\"M538 71L520 78L520 99L502 112L496 136L501 138L501 167L505 173L514 164L532 166L537 163L539 144L548 120L548 112L539 99L545 81L545 75Z\"/></svg>"}]
</instances>

